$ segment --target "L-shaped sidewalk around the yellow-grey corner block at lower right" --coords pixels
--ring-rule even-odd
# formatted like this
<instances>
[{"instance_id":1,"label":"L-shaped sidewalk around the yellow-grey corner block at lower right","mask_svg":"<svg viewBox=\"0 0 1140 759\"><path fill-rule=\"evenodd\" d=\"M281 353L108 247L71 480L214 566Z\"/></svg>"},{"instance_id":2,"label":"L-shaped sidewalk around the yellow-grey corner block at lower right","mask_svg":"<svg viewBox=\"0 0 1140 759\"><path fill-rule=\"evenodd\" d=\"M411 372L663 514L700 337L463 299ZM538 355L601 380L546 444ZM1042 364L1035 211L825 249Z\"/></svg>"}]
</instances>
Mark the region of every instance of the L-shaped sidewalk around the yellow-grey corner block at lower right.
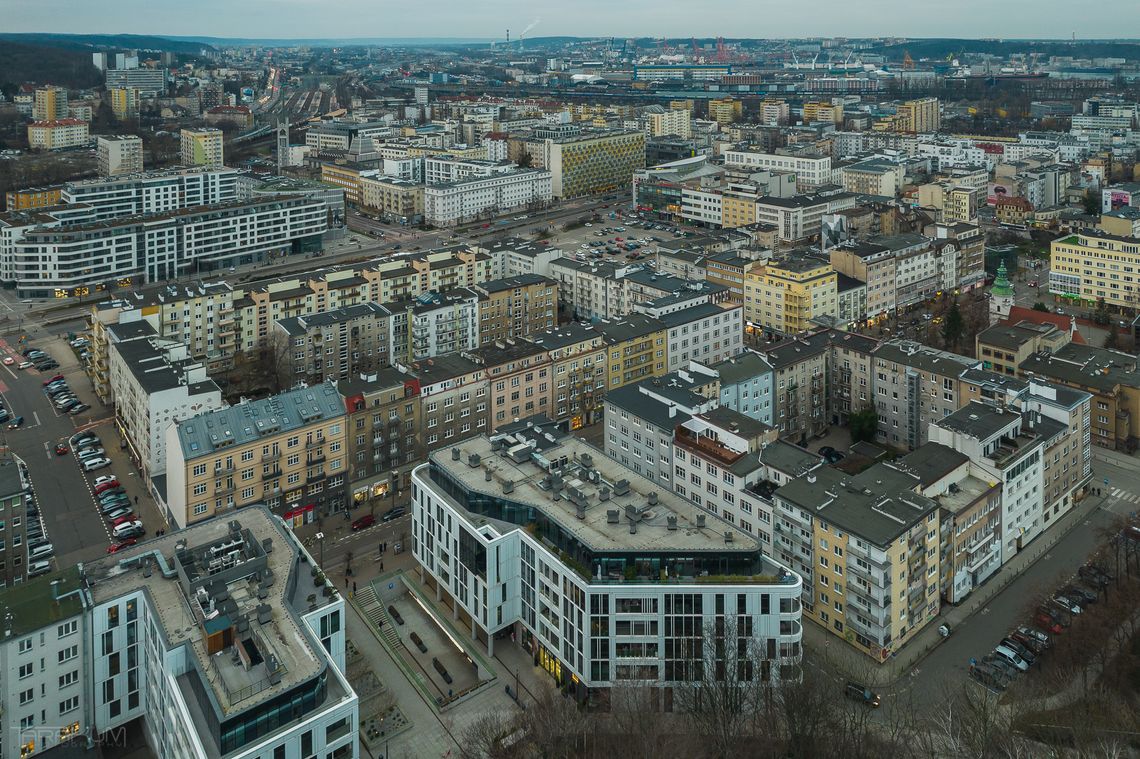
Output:
<instances>
[{"instance_id":1,"label":"L-shaped sidewalk around the yellow-grey corner block at lower right","mask_svg":"<svg viewBox=\"0 0 1140 759\"><path fill-rule=\"evenodd\" d=\"M1119 456L1127 458L1123 454ZM970 593L961 604L958 606L943 604L942 612L927 622L918 635L907 640L901 651L882 664L876 666L873 659L823 630L811 620L804 621L804 648L816 653L826 652L828 656L845 672L858 672L866 670L868 667L874 668L874 671L881 677L882 687L895 685L901 678L907 677L927 654L945 640L938 632L939 625L948 625L951 629L955 629L966 623L975 613L988 605L994 596L1004 590L1005 586L1049 553L1073 528L1089 519L1090 512L1099 508L1106 500L1104 497L1088 497L1074 506L1051 529L1026 546L993 577Z\"/></svg>"}]
</instances>

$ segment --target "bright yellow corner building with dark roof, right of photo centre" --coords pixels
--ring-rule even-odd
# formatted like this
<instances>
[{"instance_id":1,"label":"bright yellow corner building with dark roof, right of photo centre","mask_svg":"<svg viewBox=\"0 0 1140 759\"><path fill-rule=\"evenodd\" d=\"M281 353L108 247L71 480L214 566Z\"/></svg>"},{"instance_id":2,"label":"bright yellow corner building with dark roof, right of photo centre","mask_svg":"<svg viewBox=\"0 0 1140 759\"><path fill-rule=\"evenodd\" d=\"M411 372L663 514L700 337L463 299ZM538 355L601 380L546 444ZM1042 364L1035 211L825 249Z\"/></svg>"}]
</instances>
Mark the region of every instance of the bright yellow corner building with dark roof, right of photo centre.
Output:
<instances>
[{"instance_id":1,"label":"bright yellow corner building with dark roof, right of photo centre","mask_svg":"<svg viewBox=\"0 0 1140 759\"><path fill-rule=\"evenodd\" d=\"M815 326L812 319L838 316L838 277L831 262L803 253L758 262L744 272L744 320L780 335Z\"/></svg>"}]
</instances>

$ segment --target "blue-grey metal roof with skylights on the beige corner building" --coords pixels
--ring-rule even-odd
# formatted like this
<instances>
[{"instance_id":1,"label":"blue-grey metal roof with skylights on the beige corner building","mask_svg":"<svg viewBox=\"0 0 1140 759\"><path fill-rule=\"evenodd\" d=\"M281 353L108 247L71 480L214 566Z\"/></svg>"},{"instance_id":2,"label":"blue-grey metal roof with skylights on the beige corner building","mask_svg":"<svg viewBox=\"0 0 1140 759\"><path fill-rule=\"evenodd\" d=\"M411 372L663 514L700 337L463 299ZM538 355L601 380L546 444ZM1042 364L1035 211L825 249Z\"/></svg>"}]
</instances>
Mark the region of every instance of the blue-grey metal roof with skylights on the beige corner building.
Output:
<instances>
[{"instance_id":1,"label":"blue-grey metal roof with skylights on the beige corner building","mask_svg":"<svg viewBox=\"0 0 1140 759\"><path fill-rule=\"evenodd\" d=\"M182 457L190 460L343 415L344 400L336 385L325 382L261 400L243 399L229 408L180 422L178 439Z\"/></svg>"}]
</instances>

